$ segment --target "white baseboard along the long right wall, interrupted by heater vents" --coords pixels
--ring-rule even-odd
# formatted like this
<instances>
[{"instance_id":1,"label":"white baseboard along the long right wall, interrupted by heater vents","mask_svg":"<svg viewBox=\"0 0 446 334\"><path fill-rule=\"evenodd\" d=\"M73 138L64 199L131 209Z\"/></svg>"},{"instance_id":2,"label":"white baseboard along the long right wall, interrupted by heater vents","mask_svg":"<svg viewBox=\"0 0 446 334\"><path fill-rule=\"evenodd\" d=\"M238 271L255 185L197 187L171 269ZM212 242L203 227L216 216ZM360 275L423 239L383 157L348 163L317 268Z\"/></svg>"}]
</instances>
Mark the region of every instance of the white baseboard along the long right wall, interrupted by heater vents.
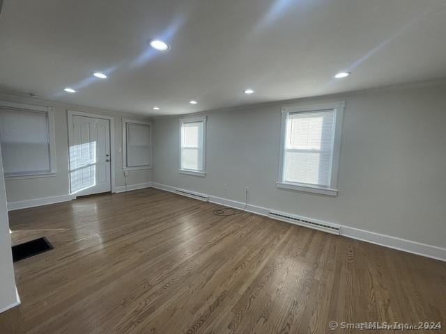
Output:
<instances>
[{"instance_id":1,"label":"white baseboard along the long right wall, interrupted by heater vents","mask_svg":"<svg viewBox=\"0 0 446 334\"><path fill-rule=\"evenodd\" d=\"M152 182L153 188L170 191L175 193L176 187L168 186L166 184L160 184ZM226 207L233 207L236 209L243 209L245 203L238 202L236 200L229 200L227 198L221 198L217 196L209 196L209 202L224 205ZM247 212L253 214L260 214L261 216L268 216L270 211L277 211L277 209L268 209L266 207L259 207L256 205L248 204L246 208ZM446 261L446 248L438 246L431 246L427 244L421 244L416 241L401 239L399 237L392 237L390 235L379 234L376 232L370 232L367 230L360 230L358 228L351 228L345 225L340 225L341 235L344 237L357 239L360 241L366 241L371 244L377 244L388 248L394 248L397 250L403 250L404 252L413 253L416 255L422 255L424 257L431 257L432 259Z\"/></svg>"}]
</instances>

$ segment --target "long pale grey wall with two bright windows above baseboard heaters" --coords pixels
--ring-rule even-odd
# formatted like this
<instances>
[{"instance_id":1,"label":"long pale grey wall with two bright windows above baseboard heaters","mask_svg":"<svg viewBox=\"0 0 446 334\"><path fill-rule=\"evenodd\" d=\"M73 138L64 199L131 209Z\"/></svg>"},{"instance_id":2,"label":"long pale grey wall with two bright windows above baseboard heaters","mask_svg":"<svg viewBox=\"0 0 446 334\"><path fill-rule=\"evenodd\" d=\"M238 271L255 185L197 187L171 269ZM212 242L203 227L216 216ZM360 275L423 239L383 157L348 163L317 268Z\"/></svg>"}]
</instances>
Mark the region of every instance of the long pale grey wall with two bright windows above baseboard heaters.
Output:
<instances>
[{"instance_id":1,"label":"long pale grey wall with two bright windows above baseboard heaters","mask_svg":"<svg viewBox=\"0 0 446 334\"><path fill-rule=\"evenodd\" d=\"M339 195L278 189L282 106L340 100L346 109ZM178 118L157 118L153 182L240 202L249 186L253 205L445 248L446 84L205 114L206 177L178 174Z\"/></svg>"}]
</instances>

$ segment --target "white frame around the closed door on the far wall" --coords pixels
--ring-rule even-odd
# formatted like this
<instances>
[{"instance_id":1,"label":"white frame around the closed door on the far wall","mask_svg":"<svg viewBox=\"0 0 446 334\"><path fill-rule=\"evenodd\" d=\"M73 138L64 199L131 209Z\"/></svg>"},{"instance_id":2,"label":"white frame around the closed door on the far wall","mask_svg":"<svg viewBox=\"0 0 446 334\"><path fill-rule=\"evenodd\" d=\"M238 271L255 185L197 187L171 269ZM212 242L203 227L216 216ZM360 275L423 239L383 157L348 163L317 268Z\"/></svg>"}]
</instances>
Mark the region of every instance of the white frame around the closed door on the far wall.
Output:
<instances>
[{"instance_id":1,"label":"white frame around the closed door on the far wall","mask_svg":"<svg viewBox=\"0 0 446 334\"><path fill-rule=\"evenodd\" d=\"M73 122L72 122L72 116L84 116L84 117L91 117L91 118L100 118L102 120L109 120L110 122L110 160L112 164L110 164L110 180L112 182L112 193L116 193L116 180L115 180L115 164L114 159L116 157L115 154L115 144L114 144L114 117L113 116L105 116L100 115L98 113L84 113L82 111L74 111L74 110L67 110L67 120L68 120L68 184L70 186L70 194L71 193L71 182L70 182L70 144L72 143L72 129L73 129Z\"/></svg>"}]
</instances>

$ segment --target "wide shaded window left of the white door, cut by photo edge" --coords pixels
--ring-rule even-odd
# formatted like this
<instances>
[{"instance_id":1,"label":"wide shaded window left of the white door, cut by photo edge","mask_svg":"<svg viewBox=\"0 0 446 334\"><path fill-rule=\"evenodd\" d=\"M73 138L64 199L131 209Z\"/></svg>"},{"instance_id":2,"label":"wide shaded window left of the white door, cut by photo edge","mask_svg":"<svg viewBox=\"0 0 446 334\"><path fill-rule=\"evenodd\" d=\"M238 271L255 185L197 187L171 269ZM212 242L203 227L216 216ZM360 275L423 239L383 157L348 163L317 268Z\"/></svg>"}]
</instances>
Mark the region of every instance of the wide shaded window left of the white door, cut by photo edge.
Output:
<instances>
[{"instance_id":1,"label":"wide shaded window left of the white door, cut by photo edge","mask_svg":"<svg viewBox=\"0 0 446 334\"><path fill-rule=\"evenodd\" d=\"M6 177L54 175L54 109L0 102L0 143Z\"/></svg>"}]
</instances>

